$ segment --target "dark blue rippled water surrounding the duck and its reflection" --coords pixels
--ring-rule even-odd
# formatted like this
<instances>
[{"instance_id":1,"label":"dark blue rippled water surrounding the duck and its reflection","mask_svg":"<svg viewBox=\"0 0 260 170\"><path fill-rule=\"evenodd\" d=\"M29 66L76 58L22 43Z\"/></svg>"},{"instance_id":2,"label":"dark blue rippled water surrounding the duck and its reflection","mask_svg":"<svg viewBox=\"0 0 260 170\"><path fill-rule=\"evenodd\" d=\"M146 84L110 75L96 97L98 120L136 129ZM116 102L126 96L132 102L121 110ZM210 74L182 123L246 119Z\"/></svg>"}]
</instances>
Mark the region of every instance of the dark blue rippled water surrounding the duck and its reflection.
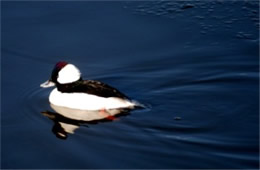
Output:
<instances>
[{"instance_id":1,"label":"dark blue rippled water surrounding the duck and its reflection","mask_svg":"<svg viewBox=\"0 0 260 170\"><path fill-rule=\"evenodd\" d=\"M2 2L1 168L259 168L259 2ZM145 104L52 132L66 60Z\"/></svg>"}]
</instances>

